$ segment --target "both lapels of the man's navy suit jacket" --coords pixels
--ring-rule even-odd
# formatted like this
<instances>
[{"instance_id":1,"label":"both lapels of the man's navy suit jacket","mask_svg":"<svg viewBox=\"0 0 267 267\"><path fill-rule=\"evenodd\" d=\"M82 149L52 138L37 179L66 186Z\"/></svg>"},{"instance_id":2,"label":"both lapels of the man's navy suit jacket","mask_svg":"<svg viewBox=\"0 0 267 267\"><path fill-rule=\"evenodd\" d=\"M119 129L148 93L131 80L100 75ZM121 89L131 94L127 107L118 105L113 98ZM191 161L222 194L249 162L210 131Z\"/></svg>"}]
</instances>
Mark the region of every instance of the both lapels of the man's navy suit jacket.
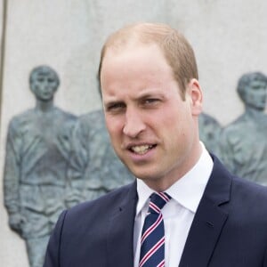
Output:
<instances>
[{"instance_id":1,"label":"both lapels of the man's navy suit jacket","mask_svg":"<svg viewBox=\"0 0 267 267\"><path fill-rule=\"evenodd\" d=\"M231 174L218 158L190 228L179 267L208 266L228 214L221 206L230 201ZM134 217L137 203L136 181L119 196L121 203L109 219L108 265L134 267Z\"/></svg>"}]
</instances>

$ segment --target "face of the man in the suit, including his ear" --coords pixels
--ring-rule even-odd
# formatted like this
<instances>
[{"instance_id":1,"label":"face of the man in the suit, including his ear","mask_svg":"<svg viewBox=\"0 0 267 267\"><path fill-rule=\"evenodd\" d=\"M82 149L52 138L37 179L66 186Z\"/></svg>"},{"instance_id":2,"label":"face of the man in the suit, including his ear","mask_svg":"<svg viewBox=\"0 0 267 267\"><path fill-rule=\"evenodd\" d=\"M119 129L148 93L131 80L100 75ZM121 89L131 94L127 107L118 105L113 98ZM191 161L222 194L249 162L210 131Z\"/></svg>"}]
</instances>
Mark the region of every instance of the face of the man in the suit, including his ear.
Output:
<instances>
[{"instance_id":1,"label":"face of the man in the suit, including his ear","mask_svg":"<svg viewBox=\"0 0 267 267\"><path fill-rule=\"evenodd\" d=\"M112 145L132 173L156 190L178 180L200 153L196 117L201 91L197 80L189 87L182 101L156 44L108 50L102 63L102 99Z\"/></svg>"}]
</instances>

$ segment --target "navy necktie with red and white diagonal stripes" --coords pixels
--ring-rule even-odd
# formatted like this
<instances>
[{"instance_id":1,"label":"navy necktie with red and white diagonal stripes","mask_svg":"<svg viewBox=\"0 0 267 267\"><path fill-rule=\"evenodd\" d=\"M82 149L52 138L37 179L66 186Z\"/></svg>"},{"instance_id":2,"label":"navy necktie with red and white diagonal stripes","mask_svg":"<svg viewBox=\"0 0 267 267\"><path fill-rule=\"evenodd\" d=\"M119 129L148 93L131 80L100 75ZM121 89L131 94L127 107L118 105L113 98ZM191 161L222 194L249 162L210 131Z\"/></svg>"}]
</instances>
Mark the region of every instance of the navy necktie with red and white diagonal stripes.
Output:
<instances>
[{"instance_id":1,"label":"navy necktie with red and white diagonal stripes","mask_svg":"<svg viewBox=\"0 0 267 267\"><path fill-rule=\"evenodd\" d=\"M161 209L171 199L165 192L150 196L150 207L142 227L139 267L165 266L165 235Z\"/></svg>"}]
</instances>

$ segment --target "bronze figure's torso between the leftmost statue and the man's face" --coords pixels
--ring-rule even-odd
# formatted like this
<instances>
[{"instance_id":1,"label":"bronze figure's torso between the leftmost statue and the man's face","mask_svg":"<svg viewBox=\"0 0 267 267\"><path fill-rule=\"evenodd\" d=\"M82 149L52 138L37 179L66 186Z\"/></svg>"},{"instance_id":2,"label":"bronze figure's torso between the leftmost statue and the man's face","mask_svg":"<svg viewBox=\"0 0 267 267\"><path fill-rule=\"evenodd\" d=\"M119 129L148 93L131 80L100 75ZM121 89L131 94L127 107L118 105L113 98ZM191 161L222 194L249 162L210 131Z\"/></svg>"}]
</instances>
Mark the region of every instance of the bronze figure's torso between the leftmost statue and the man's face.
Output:
<instances>
[{"instance_id":1,"label":"bronze figure's torso between the leftmost statue and the man's face","mask_svg":"<svg viewBox=\"0 0 267 267\"><path fill-rule=\"evenodd\" d=\"M69 206L98 198L134 180L111 147L101 109L78 118L68 177Z\"/></svg>"}]
</instances>

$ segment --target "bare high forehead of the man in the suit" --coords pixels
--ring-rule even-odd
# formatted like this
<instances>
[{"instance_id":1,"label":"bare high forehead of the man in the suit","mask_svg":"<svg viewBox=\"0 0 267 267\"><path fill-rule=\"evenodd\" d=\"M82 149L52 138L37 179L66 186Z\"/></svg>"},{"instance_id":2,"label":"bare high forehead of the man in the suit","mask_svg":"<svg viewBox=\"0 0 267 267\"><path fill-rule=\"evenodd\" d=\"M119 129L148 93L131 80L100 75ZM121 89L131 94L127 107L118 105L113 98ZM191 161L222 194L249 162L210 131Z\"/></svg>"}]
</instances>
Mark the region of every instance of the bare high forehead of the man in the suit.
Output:
<instances>
[{"instance_id":1,"label":"bare high forehead of the man in the suit","mask_svg":"<svg viewBox=\"0 0 267 267\"><path fill-rule=\"evenodd\" d=\"M157 44L110 50L103 59L101 93L104 102L120 98L138 99L155 93L168 94L178 85L173 71Z\"/></svg>"}]
</instances>

